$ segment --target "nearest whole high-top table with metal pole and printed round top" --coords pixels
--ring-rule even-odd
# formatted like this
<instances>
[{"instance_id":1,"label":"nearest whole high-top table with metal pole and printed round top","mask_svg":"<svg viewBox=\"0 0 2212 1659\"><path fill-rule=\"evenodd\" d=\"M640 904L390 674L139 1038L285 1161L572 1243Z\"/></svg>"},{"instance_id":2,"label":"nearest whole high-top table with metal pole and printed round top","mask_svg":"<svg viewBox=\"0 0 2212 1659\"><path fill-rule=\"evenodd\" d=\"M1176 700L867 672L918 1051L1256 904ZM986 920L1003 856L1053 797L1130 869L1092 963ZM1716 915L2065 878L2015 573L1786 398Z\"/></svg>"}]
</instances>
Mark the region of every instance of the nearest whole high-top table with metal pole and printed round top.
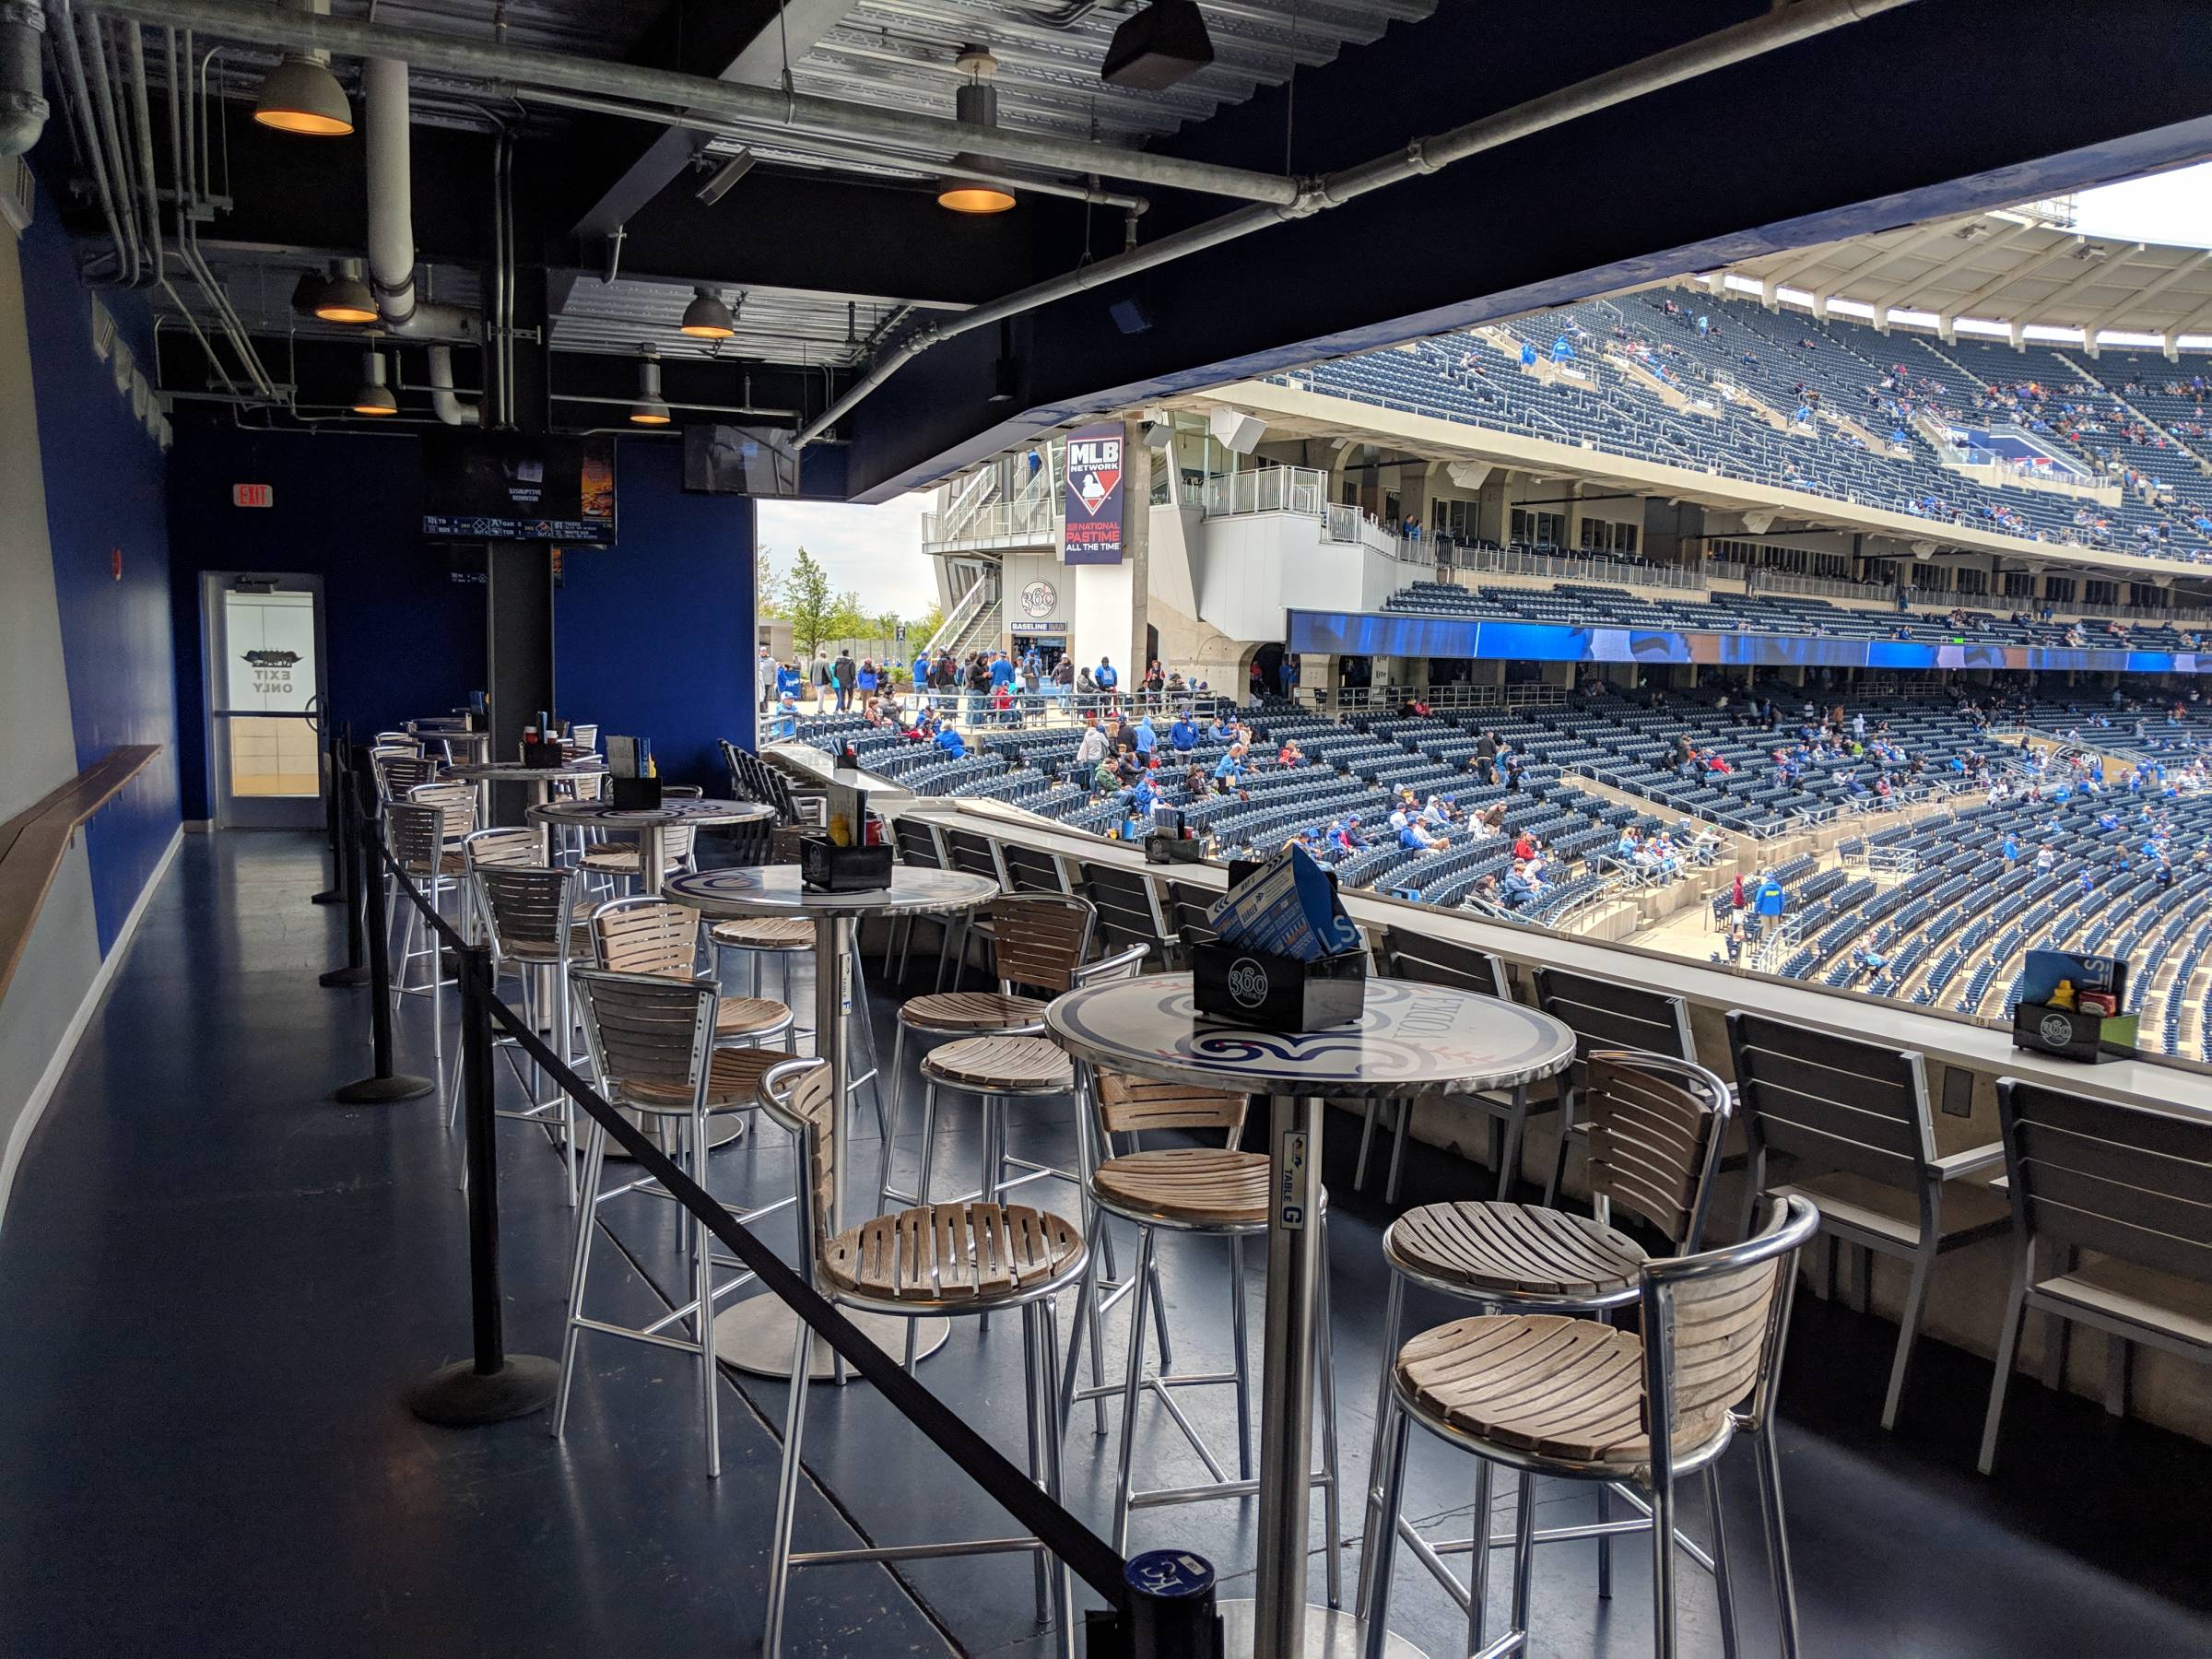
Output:
<instances>
[{"instance_id":1,"label":"nearest whole high-top table with metal pole and printed round top","mask_svg":"<svg viewBox=\"0 0 2212 1659\"><path fill-rule=\"evenodd\" d=\"M1321 1104L1473 1095L1555 1077L1575 1062L1575 1033L1517 1002L1411 980L1369 980L1360 1020L1327 1031L1243 1031L1194 1015L1190 975L1155 973L1071 991L1044 1020L1062 1048L1104 1071L1270 1102L1259 1582L1250 1606L1223 1608L1223 1624L1232 1655L1352 1659L1363 1652L1358 1621L1305 1606ZM1418 1659L1402 1637L1374 1652Z\"/></svg>"}]
</instances>

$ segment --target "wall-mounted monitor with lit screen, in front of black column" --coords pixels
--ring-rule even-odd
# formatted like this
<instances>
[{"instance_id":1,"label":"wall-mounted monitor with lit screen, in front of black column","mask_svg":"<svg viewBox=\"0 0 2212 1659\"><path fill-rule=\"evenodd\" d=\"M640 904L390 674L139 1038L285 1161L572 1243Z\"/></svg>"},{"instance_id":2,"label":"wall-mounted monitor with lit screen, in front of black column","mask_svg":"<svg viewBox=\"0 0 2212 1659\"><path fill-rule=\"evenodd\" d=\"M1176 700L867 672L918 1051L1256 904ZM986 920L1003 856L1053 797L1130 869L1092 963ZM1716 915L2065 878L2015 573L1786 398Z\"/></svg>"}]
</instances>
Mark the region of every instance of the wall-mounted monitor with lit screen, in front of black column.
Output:
<instances>
[{"instance_id":1,"label":"wall-mounted monitor with lit screen, in front of black column","mask_svg":"<svg viewBox=\"0 0 2212 1659\"><path fill-rule=\"evenodd\" d=\"M422 440L422 533L611 546L615 440L434 434Z\"/></svg>"}]
</instances>

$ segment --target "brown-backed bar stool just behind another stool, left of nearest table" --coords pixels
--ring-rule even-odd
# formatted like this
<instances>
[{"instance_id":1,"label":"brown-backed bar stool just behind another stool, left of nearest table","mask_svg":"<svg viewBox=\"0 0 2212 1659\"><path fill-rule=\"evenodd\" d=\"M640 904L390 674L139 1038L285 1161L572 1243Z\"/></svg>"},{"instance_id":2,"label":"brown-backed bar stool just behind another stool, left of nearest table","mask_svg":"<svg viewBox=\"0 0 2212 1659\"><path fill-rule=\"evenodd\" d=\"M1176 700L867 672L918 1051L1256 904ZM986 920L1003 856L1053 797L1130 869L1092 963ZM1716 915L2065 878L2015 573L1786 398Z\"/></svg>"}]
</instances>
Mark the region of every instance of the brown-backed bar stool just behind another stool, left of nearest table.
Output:
<instances>
[{"instance_id":1,"label":"brown-backed bar stool just behind another stool, left of nearest table","mask_svg":"<svg viewBox=\"0 0 2212 1659\"><path fill-rule=\"evenodd\" d=\"M1091 933L1097 922L1097 911L1091 909L1079 898L1055 898L1055 896L1029 896L1029 898L993 898L982 907L984 920L989 922L993 936L998 938L998 991L933 991L929 995L907 998L898 1009L898 1035L891 1042L891 1121L889 1133L883 1141L883 1170L876 1181L876 1212L885 1212L891 1203L929 1203L929 1168L938 1126L936 1106L936 1077L929 1071L929 1060L922 1060L922 1168L914 1192L896 1192L891 1188L891 1159L896 1152L896 1137L905 1124L907 1113L907 1073L902 1066L902 1055L907 1048L907 1033L920 1040L951 1040L969 1042L978 1037L1029 1037L1037 1042L1035 1077L1040 1082L1026 1082L1026 1073L1011 1079L1015 1093L1066 1093L1073 1086L1073 1075L1068 1071L1066 1055L1057 1044L1042 1042L1044 1033L1044 1000L1018 995L1015 989L1048 991L1051 995L1062 995L1075 987L1075 975L1082 971L1084 956L1091 951ZM1009 1057L1020 1057L1022 1051L1009 1051ZM980 1057L973 1055L971 1060ZM1055 1086L1044 1086L1055 1084ZM958 1084L953 1084L958 1086ZM973 1093L973 1091L971 1091ZM993 1108L995 1097L984 1097L984 1159L989 1164L989 1139L991 1126L1000 1121ZM987 1177L989 1183L989 1177ZM978 1190L978 1197L995 1197L989 1190Z\"/></svg>"}]
</instances>

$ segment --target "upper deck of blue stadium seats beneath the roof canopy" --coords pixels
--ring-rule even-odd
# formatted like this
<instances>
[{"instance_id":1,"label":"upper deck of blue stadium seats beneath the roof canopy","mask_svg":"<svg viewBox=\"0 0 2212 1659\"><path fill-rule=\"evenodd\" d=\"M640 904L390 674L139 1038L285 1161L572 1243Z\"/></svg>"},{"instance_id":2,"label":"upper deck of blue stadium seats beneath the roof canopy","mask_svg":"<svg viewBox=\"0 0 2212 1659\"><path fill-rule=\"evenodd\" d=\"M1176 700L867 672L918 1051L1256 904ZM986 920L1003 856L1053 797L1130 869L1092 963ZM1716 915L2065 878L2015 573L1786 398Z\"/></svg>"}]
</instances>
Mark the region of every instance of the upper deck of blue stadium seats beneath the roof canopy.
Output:
<instances>
[{"instance_id":1,"label":"upper deck of blue stadium seats beneath the roof canopy","mask_svg":"<svg viewBox=\"0 0 2212 1659\"><path fill-rule=\"evenodd\" d=\"M2208 376L2199 354L2093 365L1646 290L1274 380L1929 524L2201 564Z\"/></svg>"}]
</instances>

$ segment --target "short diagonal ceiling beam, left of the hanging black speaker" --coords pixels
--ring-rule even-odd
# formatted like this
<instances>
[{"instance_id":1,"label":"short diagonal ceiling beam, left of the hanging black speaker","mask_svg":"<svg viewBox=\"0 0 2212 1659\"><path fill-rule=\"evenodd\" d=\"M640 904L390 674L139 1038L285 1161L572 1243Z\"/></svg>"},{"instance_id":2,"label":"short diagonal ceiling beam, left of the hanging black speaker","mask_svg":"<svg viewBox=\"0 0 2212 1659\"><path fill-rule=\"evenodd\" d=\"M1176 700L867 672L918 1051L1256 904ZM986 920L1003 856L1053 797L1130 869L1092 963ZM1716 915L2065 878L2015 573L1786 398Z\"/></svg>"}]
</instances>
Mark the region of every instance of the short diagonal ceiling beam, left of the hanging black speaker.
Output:
<instances>
[{"instance_id":1,"label":"short diagonal ceiling beam, left of the hanging black speaker","mask_svg":"<svg viewBox=\"0 0 2212 1659\"><path fill-rule=\"evenodd\" d=\"M630 62L712 75L739 86L781 86L783 55L805 58L852 9L852 0L672 0L630 53ZM568 234L606 241L706 148L706 135L684 128L639 128L637 122L586 117L575 155L588 184Z\"/></svg>"}]
</instances>

